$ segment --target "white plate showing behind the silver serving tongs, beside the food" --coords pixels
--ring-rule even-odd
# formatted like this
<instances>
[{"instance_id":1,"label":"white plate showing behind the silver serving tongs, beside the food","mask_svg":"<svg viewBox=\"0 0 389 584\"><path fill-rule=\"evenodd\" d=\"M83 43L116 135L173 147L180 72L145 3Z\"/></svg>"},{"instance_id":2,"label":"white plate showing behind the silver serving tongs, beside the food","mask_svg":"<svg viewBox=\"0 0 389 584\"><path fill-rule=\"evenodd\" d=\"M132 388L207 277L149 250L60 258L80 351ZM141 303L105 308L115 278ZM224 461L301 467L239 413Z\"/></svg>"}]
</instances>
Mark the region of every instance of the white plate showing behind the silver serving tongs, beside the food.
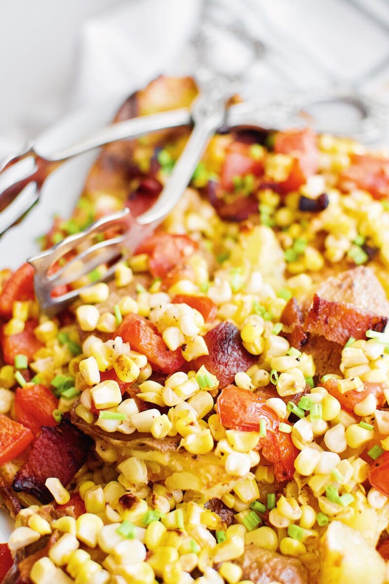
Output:
<instances>
[{"instance_id":1,"label":"white plate showing behind the silver serving tongs, beside the food","mask_svg":"<svg viewBox=\"0 0 389 584\"><path fill-rule=\"evenodd\" d=\"M122 99L123 96L120 96L93 110L71 114L41 134L36 140L37 145L41 151L48 152L75 143L108 123ZM65 219L71 215L94 158L96 152L80 155L65 162L48 177L37 205L22 223L12 227L0 239L0 269L16 269L27 257L40 251L36 240L50 230L54 214ZM0 542L8 540L11 530L12 522L8 513L0 509Z\"/></svg>"}]
</instances>

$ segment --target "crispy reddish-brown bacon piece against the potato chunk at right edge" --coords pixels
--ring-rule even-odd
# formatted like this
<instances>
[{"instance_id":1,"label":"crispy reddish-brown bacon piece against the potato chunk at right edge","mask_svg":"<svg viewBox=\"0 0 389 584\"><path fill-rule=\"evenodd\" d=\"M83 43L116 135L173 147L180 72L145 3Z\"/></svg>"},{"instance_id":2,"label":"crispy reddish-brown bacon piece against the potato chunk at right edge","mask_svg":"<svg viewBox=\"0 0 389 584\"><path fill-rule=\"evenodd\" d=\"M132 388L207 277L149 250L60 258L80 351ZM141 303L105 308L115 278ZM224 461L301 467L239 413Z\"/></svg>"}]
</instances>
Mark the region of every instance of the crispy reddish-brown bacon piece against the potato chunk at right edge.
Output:
<instances>
[{"instance_id":1,"label":"crispy reddish-brown bacon piece against the potato chunk at right edge","mask_svg":"<svg viewBox=\"0 0 389 584\"><path fill-rule=\"evenodd\" d=\"M369 329L382 332L387 322L388 317L373 314L351 304L325 300L314 294L312 308L304 322L304 330L344 345L351 336L364 339Z\"/></svg>"}]
</instances>

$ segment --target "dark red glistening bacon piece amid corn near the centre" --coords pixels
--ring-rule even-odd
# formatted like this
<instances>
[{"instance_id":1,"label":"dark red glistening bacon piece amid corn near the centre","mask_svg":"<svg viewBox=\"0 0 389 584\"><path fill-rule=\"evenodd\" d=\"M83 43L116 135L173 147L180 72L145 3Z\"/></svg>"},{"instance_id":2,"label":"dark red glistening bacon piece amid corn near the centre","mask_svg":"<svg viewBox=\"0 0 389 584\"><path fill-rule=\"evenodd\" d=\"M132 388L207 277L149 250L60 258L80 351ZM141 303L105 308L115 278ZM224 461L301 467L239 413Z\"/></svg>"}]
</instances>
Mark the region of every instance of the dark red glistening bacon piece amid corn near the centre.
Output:
<instances>
[{"instance_id":1,"label":"dark red glistening bacon piece amid corn near the centre","mask_svg":"<svg viewBox=\"0 0 389 584\"><path fill-rule=\"evenodd\" d=\"M257 357L244 348L240 332L230 322L222 322L204 336L209 354L193 361L194 369L205 365L219 380L219 389L233 383L238 371L246 371L257 362Z\"/></svg>"}]
</instances>

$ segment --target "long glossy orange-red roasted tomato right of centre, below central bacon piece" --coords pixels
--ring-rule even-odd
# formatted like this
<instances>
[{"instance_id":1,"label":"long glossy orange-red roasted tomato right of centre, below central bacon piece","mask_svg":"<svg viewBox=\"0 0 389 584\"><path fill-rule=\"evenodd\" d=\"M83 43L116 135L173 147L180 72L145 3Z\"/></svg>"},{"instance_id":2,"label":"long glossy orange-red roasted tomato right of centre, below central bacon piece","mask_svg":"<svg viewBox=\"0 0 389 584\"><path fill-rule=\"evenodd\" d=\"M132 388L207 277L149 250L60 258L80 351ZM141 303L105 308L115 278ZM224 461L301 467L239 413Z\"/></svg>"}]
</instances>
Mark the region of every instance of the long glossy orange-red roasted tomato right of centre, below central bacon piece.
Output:
<instances>
[{"instance_id":1,"label":"long glossy orange-red roasted tomato right of centre, below central bacon piece","mask_svg":"<svg viewBox=\"0 0 389 584\"><path fill-rule=\"evenodd\" d=\"M295 458L299 451L293 444L290 434L279 432L278 416L266 405L265 398L235 385L227 385L218 397L217 407L223 426L229 429L258 432L260 419L265 419L267 432L259 444L262 454L274 465L276 481L282 482L292 478L295 472Z\"/></svg>"}]
</instances>

